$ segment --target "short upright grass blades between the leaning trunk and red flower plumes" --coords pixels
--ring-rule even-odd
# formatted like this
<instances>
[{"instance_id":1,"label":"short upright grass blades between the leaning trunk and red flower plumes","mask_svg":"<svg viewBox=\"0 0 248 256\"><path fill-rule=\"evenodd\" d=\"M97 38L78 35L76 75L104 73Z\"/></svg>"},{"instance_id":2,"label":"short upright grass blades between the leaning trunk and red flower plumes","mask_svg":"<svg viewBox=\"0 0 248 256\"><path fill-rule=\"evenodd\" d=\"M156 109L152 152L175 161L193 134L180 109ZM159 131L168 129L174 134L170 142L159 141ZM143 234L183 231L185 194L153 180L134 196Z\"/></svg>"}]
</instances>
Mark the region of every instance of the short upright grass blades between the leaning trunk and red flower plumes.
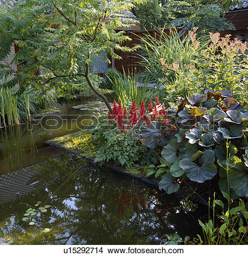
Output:
<instances>
[{"instance_id":1,"label":"short upright grass blades between the leaning trunk and red flower plumes","mask_svg":"<svg viewBox=\"0 0 248 256\"><path fill-rule=\"evenodd\" d=\"M131 105L135 100L139 107L145 99L149 81L148 78L139 80L137 74L132 71L128 74L123 72L123 76L122 74L117 73L112 83L122 106Z\"/></svg>"}]
</instances>

